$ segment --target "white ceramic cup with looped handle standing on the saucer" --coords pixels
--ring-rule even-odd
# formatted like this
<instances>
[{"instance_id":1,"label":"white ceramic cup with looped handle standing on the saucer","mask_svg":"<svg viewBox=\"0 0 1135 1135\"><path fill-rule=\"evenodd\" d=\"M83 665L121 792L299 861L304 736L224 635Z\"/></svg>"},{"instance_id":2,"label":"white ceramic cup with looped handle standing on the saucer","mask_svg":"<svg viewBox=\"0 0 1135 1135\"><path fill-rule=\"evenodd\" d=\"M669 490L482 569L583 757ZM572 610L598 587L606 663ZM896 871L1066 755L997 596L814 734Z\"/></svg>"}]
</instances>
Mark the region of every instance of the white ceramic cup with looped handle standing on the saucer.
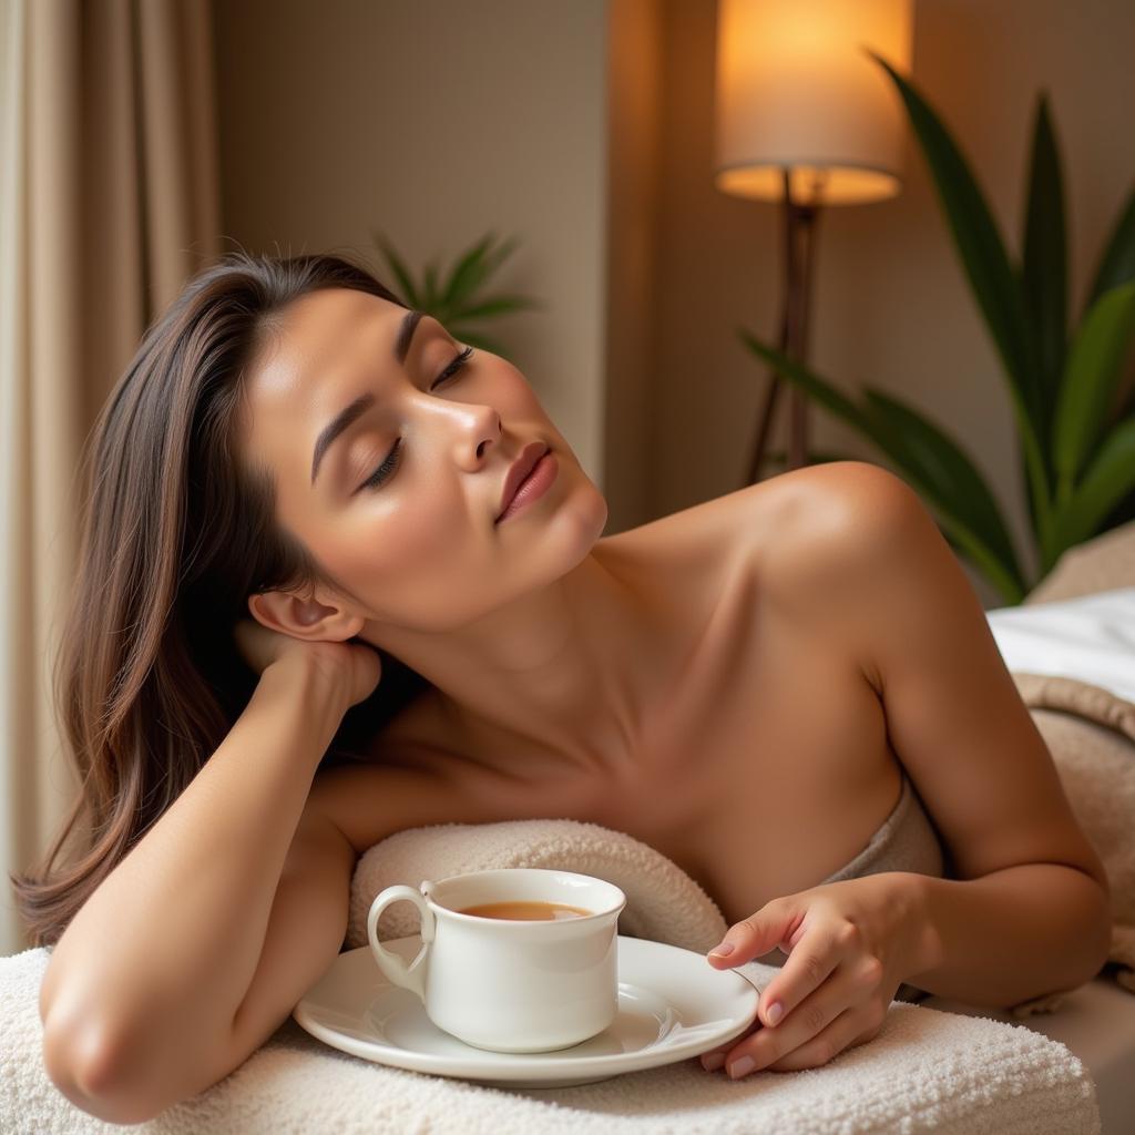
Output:
<instances>
[{"instance_id":1,"label":"white ceramic cup with looped handle standing on the saucer","mask_svg":"<svg viewBox=\"0 0 1135 1135\"><path fill-rule=\"evenodd\" d=\"M407 899L422 948L406 962L378 941L379 915ZM488 902L561 902L589 915L513 920L463 915ZM465 1044L493 1052L554 1052L602 1033L619 1011L619 915L613 883L570 871L506 867L388 886L371 903L367 936L379 968L417 993L426 1015Z\"/></svg>"}]
</instances>

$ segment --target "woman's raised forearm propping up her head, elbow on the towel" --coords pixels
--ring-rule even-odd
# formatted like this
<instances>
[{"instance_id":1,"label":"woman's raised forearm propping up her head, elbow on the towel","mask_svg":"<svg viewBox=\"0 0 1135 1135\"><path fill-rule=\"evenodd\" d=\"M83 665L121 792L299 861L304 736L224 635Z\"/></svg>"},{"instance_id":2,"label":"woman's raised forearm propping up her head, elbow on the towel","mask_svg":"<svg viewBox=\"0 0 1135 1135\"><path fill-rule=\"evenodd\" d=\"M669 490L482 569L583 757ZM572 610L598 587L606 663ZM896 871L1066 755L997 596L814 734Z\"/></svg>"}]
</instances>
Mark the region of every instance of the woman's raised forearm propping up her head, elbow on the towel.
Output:
<instances>
[{"instance_id":1,"label":"woman's raised forearm propping up her head, elbow on the towel","mask_svg":"<svg viewBox=\"0 0 1135 1135\"><path fill-rule=\"evenodd\" d=\"M347 705L344 683L301 654L269 665L217 751L75 915L40 995L57 1083L98 1098L132 1053L168 1057L151 1063L173 1076L178 1061L228 1046Z\"/></svg>"}]
</instances>

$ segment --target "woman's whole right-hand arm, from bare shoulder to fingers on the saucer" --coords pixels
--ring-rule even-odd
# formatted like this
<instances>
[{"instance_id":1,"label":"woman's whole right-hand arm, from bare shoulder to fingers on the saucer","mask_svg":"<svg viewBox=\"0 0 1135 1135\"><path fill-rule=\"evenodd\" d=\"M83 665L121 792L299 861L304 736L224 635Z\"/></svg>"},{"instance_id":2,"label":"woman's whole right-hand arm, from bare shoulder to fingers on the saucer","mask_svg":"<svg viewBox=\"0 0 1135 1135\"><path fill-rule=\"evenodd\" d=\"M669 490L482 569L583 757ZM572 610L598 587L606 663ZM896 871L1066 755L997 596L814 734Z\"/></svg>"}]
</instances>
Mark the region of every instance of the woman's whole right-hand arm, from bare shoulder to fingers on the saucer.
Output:
<instances>
[{"instance_id":1,"label":"woman's whole right-hand arm, from bare shoulder to fingers on the saucer","mask_svg":"<svg viewBox=\"0 0 1135 1135\"><path fill-rule=\"evenodd\" d=\"M789 953L760 994L755 1031L703 1056L731 1076L815 1068L871 1040L901 982L998 1007L1074 989L1103 965L1110 939L1103 865L916 494L851 461L793 470L783 484L792 491L765 587L858 663L959 877L821 884L730 927L732 950L709 955L715 968L781 943ZM762 802L776 808L775 790Z\"/></svg>"}]
</instances>

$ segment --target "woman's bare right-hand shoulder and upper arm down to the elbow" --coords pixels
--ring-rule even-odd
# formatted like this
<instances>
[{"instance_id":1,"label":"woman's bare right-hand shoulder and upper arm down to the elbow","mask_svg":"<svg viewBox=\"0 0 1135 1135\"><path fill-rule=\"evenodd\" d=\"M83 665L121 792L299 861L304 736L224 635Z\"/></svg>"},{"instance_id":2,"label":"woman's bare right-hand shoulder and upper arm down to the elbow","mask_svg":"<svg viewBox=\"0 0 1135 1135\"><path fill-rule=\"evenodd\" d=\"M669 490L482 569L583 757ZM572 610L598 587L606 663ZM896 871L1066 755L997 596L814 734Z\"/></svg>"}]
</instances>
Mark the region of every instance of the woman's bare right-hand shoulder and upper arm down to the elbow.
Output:
<instances>
[{"instance_id":1,"label":"woman's bare right-hand shoulder and upper arm down to the elbow","mask_svg":"<svg viewBox=\"0 0 1135 1135\"><path fill-rule=\"evenodd\" d=\"M1105 888L981 600L918 494L866 462L777 480L766 585L850 651L878 692L957 877L1059 863Z\"/></svg>"}]
</instances>

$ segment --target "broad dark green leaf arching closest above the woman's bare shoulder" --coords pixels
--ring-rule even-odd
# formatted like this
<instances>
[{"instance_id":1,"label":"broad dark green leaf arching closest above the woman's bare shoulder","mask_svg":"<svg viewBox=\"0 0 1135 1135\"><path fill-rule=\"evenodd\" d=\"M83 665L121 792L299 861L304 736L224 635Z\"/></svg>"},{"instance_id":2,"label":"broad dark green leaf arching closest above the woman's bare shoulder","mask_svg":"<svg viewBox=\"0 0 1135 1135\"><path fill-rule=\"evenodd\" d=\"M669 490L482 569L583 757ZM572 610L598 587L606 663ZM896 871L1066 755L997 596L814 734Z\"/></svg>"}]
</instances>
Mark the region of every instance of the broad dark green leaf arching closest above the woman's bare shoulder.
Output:
<instances>
[{"instance_id":1,"label":"broad dark green leaf arching closest above the woman's bare shoulder","mask_svg":"<svg viewBox=\"0 0 1135 1135\"><path fill-rule=\"evenodd\" d=\"M962 447L928 418L892 395L864 387L867 406L903 454L902 468L940 512L961 524L1002 566L1003 573L1024 588L1017 554L985 478Z\"/></svg>"}]
</instances>

